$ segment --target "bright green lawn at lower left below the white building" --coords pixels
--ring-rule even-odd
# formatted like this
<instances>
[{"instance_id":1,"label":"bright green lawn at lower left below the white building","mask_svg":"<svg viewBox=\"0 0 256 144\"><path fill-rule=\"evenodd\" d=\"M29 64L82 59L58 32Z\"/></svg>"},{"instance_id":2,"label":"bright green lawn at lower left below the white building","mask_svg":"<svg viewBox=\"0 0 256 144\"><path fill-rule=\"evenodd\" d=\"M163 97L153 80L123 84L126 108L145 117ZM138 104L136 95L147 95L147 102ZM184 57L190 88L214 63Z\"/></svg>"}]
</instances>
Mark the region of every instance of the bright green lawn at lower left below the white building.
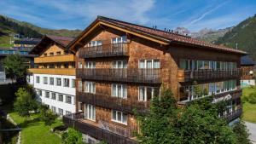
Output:
<instances>
[{"instance_id":1,"label":"bright green lawn at lower left below the white building","mask_svg":"<svg viewBox=\"0 0 256 144\"><path fill-rule=\"evenodd\" d=\"M49 131L49 126L45 126L38 119L38 114L32 115L31 118L21 118L16 112L9 113L11 118L15 120L21 127L21 144L58 144L61 143L61 138ZM60 120L56 120L52 127L61 125Z\"/></svg>"}]
</instances>

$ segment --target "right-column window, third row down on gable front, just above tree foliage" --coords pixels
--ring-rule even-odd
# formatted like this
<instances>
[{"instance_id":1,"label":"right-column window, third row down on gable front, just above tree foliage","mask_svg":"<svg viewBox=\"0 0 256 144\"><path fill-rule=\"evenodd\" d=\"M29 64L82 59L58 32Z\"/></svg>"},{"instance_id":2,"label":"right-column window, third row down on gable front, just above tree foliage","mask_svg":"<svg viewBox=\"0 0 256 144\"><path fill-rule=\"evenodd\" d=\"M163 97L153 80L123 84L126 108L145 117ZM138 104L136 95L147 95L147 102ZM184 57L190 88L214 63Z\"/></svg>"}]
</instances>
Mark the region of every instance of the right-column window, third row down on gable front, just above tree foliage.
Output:
<instances>
[{"instance_id":1,"label":"right-column window, third row down on gable front, just above tree foliage","mask_svg":"<svg viewBox=\"0 0 256 144\"><path fill-rule=\"evenodd\" d=\"M159 95L159 89L153 87L139 87L138 100L150 101L154 95Z\"/></svg>"}]
</instances>

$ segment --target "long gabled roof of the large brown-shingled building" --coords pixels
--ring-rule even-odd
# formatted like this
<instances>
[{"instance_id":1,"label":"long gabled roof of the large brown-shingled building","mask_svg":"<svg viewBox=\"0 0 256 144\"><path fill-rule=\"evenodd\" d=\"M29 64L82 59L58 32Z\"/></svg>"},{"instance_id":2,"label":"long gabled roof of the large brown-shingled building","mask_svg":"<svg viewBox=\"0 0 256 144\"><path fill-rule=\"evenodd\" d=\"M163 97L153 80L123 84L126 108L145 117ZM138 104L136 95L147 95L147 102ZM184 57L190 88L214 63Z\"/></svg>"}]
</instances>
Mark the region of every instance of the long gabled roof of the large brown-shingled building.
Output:
<instances>
[{"instance_id":1,"label":"long gabled roof of the large brown-shingled building","mask_svg":"<svg viewBox=\"0 0 256 144\"><path fill-rule=\"evenodd\" d=\"M111 18L103 17L103 16L98 16L97 19L90 24L90 26L85 28L84 32L81 32L81 34L78 37L76 37L73 40L73 42L67 45L67 48L68 49L73 48L75 43L78 43L84 37L84 35L89 33L91 29L93 29L94 26L96 25L110 26L110 27L119 29L120 31L137 35L139 37L146 37L146 38L148 37L149 40L152 40L154 42L159 42L165 45L168 45L170 43L177 43L177 44L184 44L184 45L189 45L194 47L201 47L206 49L230 52L230 53L235 53L239 55L247 54L246 52L238 49L231 49L231 48L227 48L227 47L212 44L212 43L206 43L204 41L183 36L174 32L161 31L161 30L150 28L147 26L139 26L136 24L131 24L129 22L114 20Z\"/></svg>"}]
</instances>

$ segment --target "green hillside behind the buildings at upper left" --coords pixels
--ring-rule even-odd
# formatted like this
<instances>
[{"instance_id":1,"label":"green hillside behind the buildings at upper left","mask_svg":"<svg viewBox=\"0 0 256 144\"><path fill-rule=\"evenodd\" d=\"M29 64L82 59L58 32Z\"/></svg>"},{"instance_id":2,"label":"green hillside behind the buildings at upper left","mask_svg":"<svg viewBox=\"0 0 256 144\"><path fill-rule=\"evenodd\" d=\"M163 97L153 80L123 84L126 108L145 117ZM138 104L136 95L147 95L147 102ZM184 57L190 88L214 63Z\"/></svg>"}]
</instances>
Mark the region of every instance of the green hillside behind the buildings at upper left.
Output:
<instances>
[{"instance_id":1,"label":"green hillside behind the buildings at upper left","mask_svg":"<svg viewBox=\"0 0 256 144\"><path fill-rule=\"evenodd\" d=\"M24 35L24 37L38 38L43 37L45 34L62 37L76 37L80 32L80 30L52 30L41 28L24 21L14 20L9 17L0 15L0 47L11 47L12 44L9 44L10 39L16 33L20 33Z\"/></svg>"}]
</instances>

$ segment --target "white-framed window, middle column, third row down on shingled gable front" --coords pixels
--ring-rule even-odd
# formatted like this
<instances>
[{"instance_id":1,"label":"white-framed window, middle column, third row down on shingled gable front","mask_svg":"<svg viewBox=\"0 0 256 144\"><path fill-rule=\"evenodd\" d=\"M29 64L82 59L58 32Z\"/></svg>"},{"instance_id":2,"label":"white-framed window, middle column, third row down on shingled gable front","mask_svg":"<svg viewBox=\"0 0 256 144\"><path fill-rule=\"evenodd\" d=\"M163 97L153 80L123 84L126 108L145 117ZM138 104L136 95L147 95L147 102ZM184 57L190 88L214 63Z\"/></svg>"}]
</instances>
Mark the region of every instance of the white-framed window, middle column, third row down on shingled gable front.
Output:
<instances>
[{"instance_id":1,"label":"white-framed window, middle column, third row down on shingled gable front","mask_svg":"<svg viewBox=\"0 0 256 144\"><path fill-rule=\"evenodd\" d=\"M121 95L119 95L119 86L121 87ZM115 95L113 95L113 89L115 89ZM125 90L125 92L124 92ZM127 89L127 85L126 84L111 84L111 95L113 97L119 97L122 99L127 99L127 93L128 93L128 89ZM125 95L124 95L125 94Z\"/></svg>"}]
</instances>

